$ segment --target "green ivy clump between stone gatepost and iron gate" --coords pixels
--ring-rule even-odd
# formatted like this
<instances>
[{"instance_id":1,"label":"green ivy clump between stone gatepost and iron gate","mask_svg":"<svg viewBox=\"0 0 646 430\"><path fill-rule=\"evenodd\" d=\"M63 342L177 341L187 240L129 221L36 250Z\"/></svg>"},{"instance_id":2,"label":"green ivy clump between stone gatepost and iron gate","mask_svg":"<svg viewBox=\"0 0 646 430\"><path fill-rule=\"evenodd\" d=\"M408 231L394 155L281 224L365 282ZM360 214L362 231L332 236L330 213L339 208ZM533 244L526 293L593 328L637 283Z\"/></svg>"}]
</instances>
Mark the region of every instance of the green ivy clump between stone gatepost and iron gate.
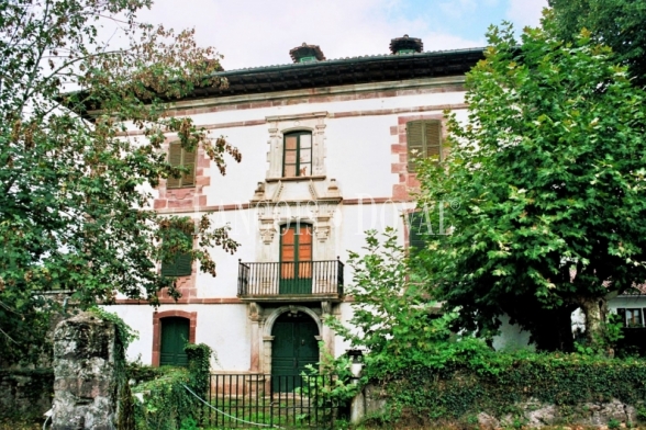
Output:
<instances>
[{"instance_id":1,"label":"green ivy clump between stone gatepost and iron gate","mask_svg":"<svg viewBox=\"0 0 646 430\"><path fill-rule=\"evenodd\" d=\"M201 414L200 401L190 394L205 397L209 389L209 360L211 349L203 344L187 344L189 365L182 367L162 367L159 375L133 388L135 396L135 422L138 430L190 430L197 428Z\"/></svg>"}]
</instances>

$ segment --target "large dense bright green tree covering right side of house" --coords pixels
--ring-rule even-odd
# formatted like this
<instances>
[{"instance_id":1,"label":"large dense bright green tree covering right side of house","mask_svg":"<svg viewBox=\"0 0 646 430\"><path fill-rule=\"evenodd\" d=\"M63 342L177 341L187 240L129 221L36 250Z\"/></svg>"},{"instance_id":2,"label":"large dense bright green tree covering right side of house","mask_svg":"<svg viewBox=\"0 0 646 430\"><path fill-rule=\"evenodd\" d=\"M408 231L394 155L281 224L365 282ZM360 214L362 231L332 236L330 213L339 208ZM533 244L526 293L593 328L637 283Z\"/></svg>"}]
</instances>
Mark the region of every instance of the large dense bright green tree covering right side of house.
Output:
<instances>
[{"instance_id":1,"label":"large dense bright green tree covering right side of house","mask_svg":"<svg viewBox=\"0 0 646 430\"><path fill-rule=\"evenodd\" d=\"M490 338L508 314L539 349L571 350L581 307L594 344L605 301L646 280L645 93L589 32L488 37L468 121L449 115L449 156L420 166L420 207L452 234L419 262L459 328Z\"/></svg>"}]
</instances>

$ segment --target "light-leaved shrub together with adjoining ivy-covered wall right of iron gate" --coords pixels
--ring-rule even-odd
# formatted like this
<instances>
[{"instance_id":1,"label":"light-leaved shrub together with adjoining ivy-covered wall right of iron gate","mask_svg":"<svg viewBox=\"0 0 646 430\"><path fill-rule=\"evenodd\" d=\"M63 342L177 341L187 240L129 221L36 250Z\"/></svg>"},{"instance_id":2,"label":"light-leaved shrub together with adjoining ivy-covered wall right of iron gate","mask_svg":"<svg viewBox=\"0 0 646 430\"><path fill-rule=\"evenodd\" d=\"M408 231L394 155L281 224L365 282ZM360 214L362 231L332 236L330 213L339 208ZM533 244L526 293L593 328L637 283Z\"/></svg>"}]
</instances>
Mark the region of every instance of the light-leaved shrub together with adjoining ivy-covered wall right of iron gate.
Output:
<instances>
[{"instance_id":1,"label":"light-leaved shrub together with adjoining ivy-covered wall right of iron gate","mask_svg":"<svg viewBox=\"0 0 646 430\"><path fill-rule=\"evenodd\" d=\"M391 427L405 420L422 427L444 422L477 428L475 417L487 412L516 420L520 428L521 408L530 403L555 405L563 423L589 417L584 404L619 399L644 408L643 359L610 359L604 349L586 343L579 344L579 353L499 352L484 339L453 332L455 313L435 314L414 276L392 275L414 265L391 229L381 237L368 231L365 253L353 253L348 263L355 272L355 284L348 286L355 297L349 327L355 329L328 324L366 350L360 383L377 384L388 398L387 410L374 423ZM615 348L620 332L610 320L597 344ZM343 372L347 361L333 367ZM335 395L349 398L354 393L339 386Z\"/></svg>"}]
</instances>

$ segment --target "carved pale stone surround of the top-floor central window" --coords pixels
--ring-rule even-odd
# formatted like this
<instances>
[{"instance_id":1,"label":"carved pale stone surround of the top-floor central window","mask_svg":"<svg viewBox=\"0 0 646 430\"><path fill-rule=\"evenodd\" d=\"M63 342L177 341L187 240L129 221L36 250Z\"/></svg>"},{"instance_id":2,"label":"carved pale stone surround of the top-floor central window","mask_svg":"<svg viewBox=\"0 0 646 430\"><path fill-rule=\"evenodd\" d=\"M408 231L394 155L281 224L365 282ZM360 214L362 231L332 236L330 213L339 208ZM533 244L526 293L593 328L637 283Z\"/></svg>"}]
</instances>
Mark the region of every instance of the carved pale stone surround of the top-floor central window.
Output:
<instances>
[{"instance_id":1,"label":"carved pale stone surround of the top-floor central window","mask_svg":"<svg viewBox=\"0 0 646 430\"><path fill-rule=\"evenodd\" d=\"M269 150L267 152L267 161L269 162L269 170L267 170L266 180L268 182L283 180L282 177L282 160L285 134L299 131L308 131L312 133L312 172L309 177L298 177L300 180L325 179L325 118L328 116L327 112L313 112L305 114L292 115L276 115L267 116L266 121L269 124ZM291 179L291 178L289 178Z\"/></svg>"}]
</instances>

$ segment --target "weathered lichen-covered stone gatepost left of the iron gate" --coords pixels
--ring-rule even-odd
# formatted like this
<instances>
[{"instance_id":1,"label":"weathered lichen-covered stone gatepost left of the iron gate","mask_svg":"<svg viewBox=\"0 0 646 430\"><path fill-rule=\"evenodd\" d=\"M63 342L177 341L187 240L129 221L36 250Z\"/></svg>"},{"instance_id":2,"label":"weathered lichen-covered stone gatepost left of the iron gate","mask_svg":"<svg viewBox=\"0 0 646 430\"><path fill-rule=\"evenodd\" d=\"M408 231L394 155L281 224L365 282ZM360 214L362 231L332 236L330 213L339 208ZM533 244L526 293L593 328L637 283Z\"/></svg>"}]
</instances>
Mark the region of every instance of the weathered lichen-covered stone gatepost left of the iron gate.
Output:
<instances>
[{"instance_id":1,"label":"weathered lichen-covered stone gatepost left of the iron gate","mask_svg":"<svg viewBox=\"0 0 646 430\"><path fill-rule=\"evenodd\" d=\"M56 326L53 429L116 429L116 342L114 324L94 314Z\"/></svg>"}]
</instances>

